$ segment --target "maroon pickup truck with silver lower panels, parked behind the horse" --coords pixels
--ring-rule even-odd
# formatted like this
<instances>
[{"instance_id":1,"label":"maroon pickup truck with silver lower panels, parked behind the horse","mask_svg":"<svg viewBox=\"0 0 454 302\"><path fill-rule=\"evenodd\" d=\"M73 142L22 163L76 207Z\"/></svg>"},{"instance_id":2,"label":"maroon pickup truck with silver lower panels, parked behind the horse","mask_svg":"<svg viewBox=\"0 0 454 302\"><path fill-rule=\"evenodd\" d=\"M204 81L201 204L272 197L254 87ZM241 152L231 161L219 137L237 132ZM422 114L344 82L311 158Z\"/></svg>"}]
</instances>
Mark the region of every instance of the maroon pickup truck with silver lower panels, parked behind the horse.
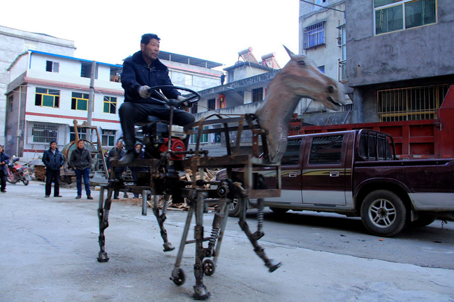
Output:
<instances>
[{"instance_id":1,"label":"maroon pickup truck with silver lower panels, parked behind the horse","mask_svg":"<svg viewBox=\"0 0 454 302\"><path fill-rule=\"evenodd\" d=\"M275 170L257 172L267 186L276 186ZM281 197L265 198L272 211L359 216L377 236L454 216L454 160L397 160L393 138L375 130L288 137L281 188ZM249 200L249 206L255 203ZM230 216L238 213L233 202Z\"/></svg>"}]
</instances>

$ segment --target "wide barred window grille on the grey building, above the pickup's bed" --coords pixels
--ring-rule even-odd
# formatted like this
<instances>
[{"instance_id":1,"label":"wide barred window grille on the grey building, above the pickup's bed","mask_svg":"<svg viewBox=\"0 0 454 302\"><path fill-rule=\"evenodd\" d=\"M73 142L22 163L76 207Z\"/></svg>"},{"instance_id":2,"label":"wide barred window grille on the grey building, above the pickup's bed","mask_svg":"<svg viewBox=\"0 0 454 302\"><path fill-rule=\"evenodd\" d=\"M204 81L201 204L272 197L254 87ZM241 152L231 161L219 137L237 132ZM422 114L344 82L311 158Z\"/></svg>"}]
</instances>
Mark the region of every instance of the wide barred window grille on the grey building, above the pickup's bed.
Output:
<instances>
[{"instance_id":1,"label":"wide barred window grille on the grey building, above the pickup's bed","mask_svg":"<svg viewBox=\"0 0 454 302\"><path fill-rule=\"evenodd\" d=\"M437 119L450 84L377 91L379 121Z\"/></svg>"}]
</instances>

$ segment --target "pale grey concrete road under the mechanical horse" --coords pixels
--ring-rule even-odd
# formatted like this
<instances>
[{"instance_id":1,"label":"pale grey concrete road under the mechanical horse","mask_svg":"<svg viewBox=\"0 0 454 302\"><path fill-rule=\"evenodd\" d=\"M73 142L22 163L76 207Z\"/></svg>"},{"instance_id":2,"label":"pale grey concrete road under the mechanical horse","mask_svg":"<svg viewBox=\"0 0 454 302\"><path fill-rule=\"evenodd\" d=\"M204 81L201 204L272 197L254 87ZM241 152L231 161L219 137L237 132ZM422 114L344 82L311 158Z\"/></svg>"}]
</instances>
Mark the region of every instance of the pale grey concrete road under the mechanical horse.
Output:
<instances>
[{"instance_id":1,"label":"pale grey concrete road under the mechanical horse","mask_svg":"<svg viewBox=\"0 0 454 302\"><path fill-rule=\"evenodd\" d=\"M193 301L194 247L186 246L186 282L177 287L169 280L177 251L162 251L156 219L141 216L139 206L112 205L105 231L110 261L98 263L97 202L74 199L73 189L44 198L38 182L7 190L0 195L0 301ZM168 213L174 246L186 213ZM211 219L206 214L205 230ZM228 220L217 271L205 277L210 301L454 301L452 269L319 251L314 236L282 241L273 224L282 231L284 221L265 222L261 245L283 263L269 273L236 222ZM452 252L451 246L447 262Z\"/></svg>"}]
</instances>

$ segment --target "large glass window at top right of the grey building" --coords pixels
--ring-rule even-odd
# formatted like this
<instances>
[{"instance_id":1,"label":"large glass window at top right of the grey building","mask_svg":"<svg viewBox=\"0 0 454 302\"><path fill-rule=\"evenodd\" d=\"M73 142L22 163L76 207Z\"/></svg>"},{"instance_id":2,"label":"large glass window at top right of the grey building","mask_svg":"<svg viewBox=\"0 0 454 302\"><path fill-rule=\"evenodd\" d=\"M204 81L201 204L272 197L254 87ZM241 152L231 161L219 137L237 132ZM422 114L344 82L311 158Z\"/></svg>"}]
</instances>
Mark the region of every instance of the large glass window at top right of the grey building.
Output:
<instances>
[{"instance_id":1,"label":"large glass window at top right of the grey building","mask_svg":"<svg viewBox=\"0 0 454 302\"><path fill-rule=\"evenodd\" d=\"M436 0L375 0L375 34L437 23Z\"/></svg>"}]
</instances>

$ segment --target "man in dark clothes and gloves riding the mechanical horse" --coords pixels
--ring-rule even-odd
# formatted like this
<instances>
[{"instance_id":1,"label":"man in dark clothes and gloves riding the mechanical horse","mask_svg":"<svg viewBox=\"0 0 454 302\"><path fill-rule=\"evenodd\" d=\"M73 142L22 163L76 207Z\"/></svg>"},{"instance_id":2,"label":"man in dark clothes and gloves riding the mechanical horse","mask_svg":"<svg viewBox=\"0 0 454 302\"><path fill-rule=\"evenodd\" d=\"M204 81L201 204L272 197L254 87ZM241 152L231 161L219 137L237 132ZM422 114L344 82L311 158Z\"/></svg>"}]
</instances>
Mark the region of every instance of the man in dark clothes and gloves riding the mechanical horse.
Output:
<instances>
[{"instance_id":1,"label":"man in dark clothes and gloves riding the mechanical horse","mask_svg":"<svg viewBox=\"0 0 454 302\"><path fill-rule=\"evenodd\" d=\"M156 34L145 33L140 40L140 51L126 58L123 63L121 79L124 103L118 113L126 144L126 154L121 163L131 163L131 160L138 157L138 153L134 150L136 143L134 123L145 123L148 116L157 116L164 121L170 121L170 107L164 101L150 98L151 93L148 91L153 86L172 85L167 66L158 59L159 40L161 39ZM185 99L177 89L161 89L161 91L167 98ZM191 105L184 103L180 107L182 110L175 108L173 112L173 123L180 126L193 123L194 116L184 111Z\"/></svg>"}]
</instances>

